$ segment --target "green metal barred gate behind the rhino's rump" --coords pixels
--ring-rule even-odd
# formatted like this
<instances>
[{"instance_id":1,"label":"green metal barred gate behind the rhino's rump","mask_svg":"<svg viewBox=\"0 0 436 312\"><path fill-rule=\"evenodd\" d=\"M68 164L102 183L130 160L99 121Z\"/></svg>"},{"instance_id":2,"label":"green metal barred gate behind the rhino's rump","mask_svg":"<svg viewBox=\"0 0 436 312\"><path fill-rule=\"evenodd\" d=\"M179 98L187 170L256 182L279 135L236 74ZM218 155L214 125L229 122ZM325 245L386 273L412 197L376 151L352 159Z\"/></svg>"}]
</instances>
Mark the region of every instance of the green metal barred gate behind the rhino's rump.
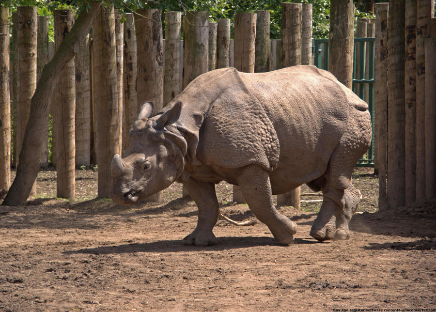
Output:
<instances>
[{"instance_id":1,"label":"green metal barred gate behind the rhino's rump","mask_svg":"<svg viewBox=\"0 0 436 312\"><path fill-rule=\"evenodd\" d=\"M356 164L360 167L374 167L374 42L375 38L354 38L353 92L368 103L373 125L371 146ZM328 70L328 39L314 39L312 47L313 64Z\"/></svg>"}]
</instances>

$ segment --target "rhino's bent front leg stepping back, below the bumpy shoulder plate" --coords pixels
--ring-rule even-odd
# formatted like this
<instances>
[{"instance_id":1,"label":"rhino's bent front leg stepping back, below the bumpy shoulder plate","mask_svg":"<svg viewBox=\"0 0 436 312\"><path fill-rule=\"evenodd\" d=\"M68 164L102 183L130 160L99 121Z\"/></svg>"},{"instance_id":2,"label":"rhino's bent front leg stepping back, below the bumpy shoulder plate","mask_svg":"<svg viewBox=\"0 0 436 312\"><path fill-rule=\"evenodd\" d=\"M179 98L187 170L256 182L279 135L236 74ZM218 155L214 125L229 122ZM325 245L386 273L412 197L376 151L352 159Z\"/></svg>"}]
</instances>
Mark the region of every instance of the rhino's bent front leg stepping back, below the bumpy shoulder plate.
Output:
<instances>
[{"instance_id":1,"label":"rhino's bent front leg stepping back, below the bumpy shoulder plate","mask_svg":"<svg viewBox=\"0 0 436 312\"><path fill-rule=\"evenodd\" d=\"M282 245L292 244L296 234L296 223L281 215L272 203L269 172L257 165L240 169L237 178L245 201L250 210L265 223L275 239Z\"/></svg>"}]
</instances>

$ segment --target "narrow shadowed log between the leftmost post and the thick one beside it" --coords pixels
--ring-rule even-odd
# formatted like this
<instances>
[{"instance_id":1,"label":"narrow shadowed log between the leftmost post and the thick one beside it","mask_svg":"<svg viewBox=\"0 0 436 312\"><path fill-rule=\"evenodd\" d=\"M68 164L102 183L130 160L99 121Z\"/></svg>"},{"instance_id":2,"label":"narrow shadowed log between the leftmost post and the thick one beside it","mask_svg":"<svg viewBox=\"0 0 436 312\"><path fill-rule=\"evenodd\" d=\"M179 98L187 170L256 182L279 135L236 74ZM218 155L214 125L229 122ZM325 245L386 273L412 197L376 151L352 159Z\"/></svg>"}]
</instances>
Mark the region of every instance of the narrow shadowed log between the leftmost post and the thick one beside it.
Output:
<instances>
[{"instance_id":1,"label":"narrow shadowed log between the leftmost post and the thick one beside it","mask_svg":"<svg viewBox=\"0 0 436 312\"><path fill-rule=\"evenodd\" d=\"M16 154L16 130L17 130L17 118L16 118L16 94L17 94L17 68L18 68L18 14L16 12L12 13L12 53L10 58L10 84L11 84L11 165L16 167L16 160L18 155Z\"/></svg>"}]
</instances>

